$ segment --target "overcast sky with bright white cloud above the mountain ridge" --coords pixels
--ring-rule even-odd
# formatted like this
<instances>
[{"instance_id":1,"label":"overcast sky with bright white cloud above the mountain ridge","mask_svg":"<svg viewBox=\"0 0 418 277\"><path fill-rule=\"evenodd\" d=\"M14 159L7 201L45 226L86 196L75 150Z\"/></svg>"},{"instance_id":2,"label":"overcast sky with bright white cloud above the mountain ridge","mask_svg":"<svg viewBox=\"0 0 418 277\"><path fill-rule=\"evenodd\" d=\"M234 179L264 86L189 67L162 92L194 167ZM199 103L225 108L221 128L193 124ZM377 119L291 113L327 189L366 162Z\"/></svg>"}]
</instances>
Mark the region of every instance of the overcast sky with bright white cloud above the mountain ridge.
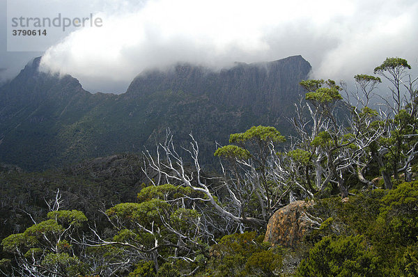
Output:
<instances>
[{"instance_id":1,"label":"overcast sky with bright white cloud above the mountain ridge","mask_svg":"<svg viewBox=\"0 0 418 277\"><path fill-rule=\"evenodd\" d=\"M0 0L1 79L41 55L44 70L71 74L92 93L123 93L142 70L178 61L222 68L302 55L313 77L347 81L388 56L418 66L417 0L10 1L22 16L92 13L102 26L59 30L45 53L7 52L11 15Z\"/></svg>"}]
</instances>

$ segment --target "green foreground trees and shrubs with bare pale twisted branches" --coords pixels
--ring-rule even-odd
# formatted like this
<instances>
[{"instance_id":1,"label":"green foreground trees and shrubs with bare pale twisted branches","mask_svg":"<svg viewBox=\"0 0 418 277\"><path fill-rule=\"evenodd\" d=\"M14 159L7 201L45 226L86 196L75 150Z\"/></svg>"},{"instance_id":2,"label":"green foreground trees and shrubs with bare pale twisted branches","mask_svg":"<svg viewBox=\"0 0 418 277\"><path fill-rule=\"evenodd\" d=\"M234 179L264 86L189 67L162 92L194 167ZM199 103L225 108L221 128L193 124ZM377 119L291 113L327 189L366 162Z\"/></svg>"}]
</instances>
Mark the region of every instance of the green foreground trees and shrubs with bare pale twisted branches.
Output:
<instances>
[{"instance_id":1,"label":"green foreground trees and shrubs with bare pale twisted branches","mask_svg":"<svg viewBox=\"0 0 418 277\"><path fill-rule=\"evenodd\" d=\"M291 120L298 135L261 125L231 134L214 153L221 173L203 172L192 134L179 152L170 132L141 157L46 173L3 166L2 208L13 222L2 234L0 269L8 276L417 276L418 78L409 69L402 58L375 69L392 84L392 98L378 109L371 101L379 77L356 75L351 95L332 80L302 81L305 101ZM18 193L26 199L16 204ZM304 212L309 234L293 247L264 242L270 216L294 200L314 200Z\"/></svg>"}]
</instances>

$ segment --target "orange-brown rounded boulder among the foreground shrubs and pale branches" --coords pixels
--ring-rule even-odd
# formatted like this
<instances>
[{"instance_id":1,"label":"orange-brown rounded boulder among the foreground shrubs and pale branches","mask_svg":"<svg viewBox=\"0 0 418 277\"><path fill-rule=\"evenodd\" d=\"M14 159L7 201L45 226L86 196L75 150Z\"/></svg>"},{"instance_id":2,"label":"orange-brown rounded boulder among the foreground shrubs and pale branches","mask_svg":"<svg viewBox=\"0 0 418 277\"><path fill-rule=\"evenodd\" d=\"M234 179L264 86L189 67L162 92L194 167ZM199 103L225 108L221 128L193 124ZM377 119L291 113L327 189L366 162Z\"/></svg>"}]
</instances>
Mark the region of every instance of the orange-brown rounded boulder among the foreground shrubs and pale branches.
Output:
<instances>
[{"instance_id":1,"label":"orange-brown rounded boulder among the foreground shrubs and pale branches","mask_svg":"<svg viewBox=\"0 0 418 277\"><path fill-rule=\"evenodd\" d=\"M314 201L299 200L277 210L268 221L264 242L293 247L301 242L311 229L305 211Z\"/></svg>"}]
</instances>

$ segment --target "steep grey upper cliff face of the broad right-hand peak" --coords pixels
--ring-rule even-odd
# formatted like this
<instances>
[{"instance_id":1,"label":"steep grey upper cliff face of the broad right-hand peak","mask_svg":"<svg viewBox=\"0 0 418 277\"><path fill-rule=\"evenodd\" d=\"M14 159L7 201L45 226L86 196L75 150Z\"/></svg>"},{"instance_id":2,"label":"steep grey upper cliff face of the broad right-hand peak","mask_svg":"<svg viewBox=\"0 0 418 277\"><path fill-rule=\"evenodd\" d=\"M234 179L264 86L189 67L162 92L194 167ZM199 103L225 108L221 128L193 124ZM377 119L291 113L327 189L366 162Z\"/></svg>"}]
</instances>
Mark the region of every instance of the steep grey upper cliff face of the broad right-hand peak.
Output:
<instances>
[{"instance_id":1,"label":"steep grey upper cliff face of the broad right-hand peak","mask_svg":"<svg viewBox=\"0 0 418 277\"><path fill-rule=\"evenodd\" d=\"M215 72L208 68L178 64L169 70L147 71L132 81L126 96L148 95L158 91L183 91L207 95L215 104L249 107L261 116L288 115L302 90L297 84L306 79L311 65L302 56L291 56L265 63L236 63L233 68Z\"/></svg>"}]
</instances>

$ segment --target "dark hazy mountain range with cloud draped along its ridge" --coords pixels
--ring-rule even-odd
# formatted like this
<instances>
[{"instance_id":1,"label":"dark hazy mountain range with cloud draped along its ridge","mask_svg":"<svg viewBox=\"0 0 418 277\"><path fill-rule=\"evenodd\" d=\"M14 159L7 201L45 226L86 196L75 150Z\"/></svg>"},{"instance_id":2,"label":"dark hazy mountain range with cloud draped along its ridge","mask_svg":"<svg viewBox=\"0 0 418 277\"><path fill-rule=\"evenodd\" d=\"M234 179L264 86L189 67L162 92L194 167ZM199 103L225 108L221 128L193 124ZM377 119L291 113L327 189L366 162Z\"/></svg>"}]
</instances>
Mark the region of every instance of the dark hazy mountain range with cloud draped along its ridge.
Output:
<instances>
[{"instance_id":1,"label":"dark hazy mountain range with cloud draped along its ridge","mask_svg":"<svg viewBox=\"0 0 418 277\"><path fill-rule=\"evenodd\" d=\"M215 141L253 125L286 134L311 65L302 56L265 63L236 63L213 71L178 63L147 70L122 95L88 93L70 75L40 72L34 59L0 88L0 161L39 170L118 152L140 152L164 139L180 146L192 132L203 164Z\"/></svg>"}]
</instances>

